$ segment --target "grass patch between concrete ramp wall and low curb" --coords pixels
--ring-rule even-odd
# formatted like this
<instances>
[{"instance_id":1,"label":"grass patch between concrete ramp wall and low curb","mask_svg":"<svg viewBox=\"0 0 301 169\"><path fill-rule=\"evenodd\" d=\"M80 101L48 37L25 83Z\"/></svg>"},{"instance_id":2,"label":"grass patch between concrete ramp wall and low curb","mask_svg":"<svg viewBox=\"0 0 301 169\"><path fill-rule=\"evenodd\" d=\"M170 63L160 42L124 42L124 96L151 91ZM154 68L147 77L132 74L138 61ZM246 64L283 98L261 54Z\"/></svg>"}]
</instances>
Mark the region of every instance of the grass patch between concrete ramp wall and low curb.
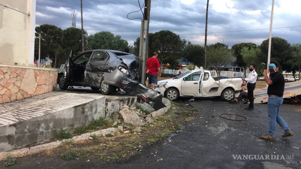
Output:
<instances>
[{"instance_id":1,"label":"grass patch between concrete ramp wall and low curb","mask_svg":"<svg viewBox=\"0 0 301 169\"><path fill-rule=\"evenodd\" d=\"M114 123L113 119L98 118L98 119L93 119L84 127L75 127L73 131L74 134L80 135L88 132L101 130L104 128L109 128L113 123Z\"/></svg>"}]
</instances>

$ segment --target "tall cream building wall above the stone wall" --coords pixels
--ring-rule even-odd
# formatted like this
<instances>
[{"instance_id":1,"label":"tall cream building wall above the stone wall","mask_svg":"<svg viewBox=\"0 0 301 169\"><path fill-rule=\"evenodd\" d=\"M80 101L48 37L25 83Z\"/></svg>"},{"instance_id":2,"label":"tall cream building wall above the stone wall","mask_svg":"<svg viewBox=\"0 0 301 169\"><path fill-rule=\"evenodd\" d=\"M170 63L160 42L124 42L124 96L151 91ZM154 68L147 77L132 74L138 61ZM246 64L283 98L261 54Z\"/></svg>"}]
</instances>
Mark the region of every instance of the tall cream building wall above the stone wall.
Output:
<instances>
[{"instance_id":1,"label":"tall cream building wall above the stone wall","mask_svg":"<svg viewBox=\"0 0 301 169\"><path fill-rule=\"evenodd\" d=\"M36 0L1 0L0 4L29 14L0 7L0 64L33 63Z\"/></svg>"}]
</instances>

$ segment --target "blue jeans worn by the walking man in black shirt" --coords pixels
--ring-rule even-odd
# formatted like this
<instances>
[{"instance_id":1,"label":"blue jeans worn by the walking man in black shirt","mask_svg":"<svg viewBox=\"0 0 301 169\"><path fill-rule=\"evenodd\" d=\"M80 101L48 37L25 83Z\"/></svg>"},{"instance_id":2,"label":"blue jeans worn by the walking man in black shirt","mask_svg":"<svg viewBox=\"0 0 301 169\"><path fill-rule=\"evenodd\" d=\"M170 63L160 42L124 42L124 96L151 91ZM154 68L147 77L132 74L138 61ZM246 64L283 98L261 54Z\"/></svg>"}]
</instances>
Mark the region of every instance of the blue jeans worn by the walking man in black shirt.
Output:
<instances>
[{"instance_id":1,"label":"blue jeans worn by the walking man in black shirt","mask_svg":"<svg viewBox=\"0 0 301 169\"><path fill-rule=\"evenodd\" d=\"M268 134L275 135L276 122L284 131L290 131L287 123L279 115L280 105L283 103L283 97L268 97L268 119L270 121L270 128Z\"/></svg>"}]
</instances>

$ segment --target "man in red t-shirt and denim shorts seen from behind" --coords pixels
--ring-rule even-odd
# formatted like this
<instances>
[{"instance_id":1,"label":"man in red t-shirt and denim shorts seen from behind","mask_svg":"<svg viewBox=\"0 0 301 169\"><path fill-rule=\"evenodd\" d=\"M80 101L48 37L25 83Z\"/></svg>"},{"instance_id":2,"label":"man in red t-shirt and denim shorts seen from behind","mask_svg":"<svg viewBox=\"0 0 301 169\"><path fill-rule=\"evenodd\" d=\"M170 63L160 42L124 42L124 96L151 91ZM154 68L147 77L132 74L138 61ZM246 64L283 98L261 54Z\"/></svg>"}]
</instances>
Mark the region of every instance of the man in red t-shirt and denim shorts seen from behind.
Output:
<instances>
[{"instance_id":1,"label":"man in red t-shirt and denim shorts seen from behind","mask_svg":"<svg viewBox=\"0 0 301 169\"><path fill-rule=\"evenodd\" d=\"M155 88L155 84L158 82L158 74L161 76L160 63L157 59L158 52L153 53L153 57L146 61L146 74L148 77L148 84L151 84L152 88Z\"/></svg>"}]
</instances>

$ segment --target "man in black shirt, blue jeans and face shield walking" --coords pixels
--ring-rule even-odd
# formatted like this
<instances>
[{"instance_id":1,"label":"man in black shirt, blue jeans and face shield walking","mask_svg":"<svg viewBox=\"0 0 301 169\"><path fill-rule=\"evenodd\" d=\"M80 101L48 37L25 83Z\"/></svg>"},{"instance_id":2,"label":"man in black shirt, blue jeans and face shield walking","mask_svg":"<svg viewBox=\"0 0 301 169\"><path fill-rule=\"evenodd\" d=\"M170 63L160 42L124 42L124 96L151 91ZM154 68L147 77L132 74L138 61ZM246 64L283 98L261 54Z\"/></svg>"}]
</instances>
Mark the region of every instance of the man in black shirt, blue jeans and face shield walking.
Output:
<instances>
[{"instance_id":1,"label":"man in black shirt, blue jeans and face shield walking","mask_svg":"<svg viewBox=\"0 0 301 169\"><path fill-rule=\"evenodd\" d=\"M270 121L270 127L268 134L260 136L264 140L274 140L276 123L278 123L284 130L282 137L293 136L293 132L290 131L287 123L279 115L280 105L283 103L283 92L284 92L284 76L279 72L279 67L275 63L268 64L270 72L270 78L268 77L268 71L264 70L263 75L265 82L268 84L268 119Z\"/></svg>"}]
</instances>

